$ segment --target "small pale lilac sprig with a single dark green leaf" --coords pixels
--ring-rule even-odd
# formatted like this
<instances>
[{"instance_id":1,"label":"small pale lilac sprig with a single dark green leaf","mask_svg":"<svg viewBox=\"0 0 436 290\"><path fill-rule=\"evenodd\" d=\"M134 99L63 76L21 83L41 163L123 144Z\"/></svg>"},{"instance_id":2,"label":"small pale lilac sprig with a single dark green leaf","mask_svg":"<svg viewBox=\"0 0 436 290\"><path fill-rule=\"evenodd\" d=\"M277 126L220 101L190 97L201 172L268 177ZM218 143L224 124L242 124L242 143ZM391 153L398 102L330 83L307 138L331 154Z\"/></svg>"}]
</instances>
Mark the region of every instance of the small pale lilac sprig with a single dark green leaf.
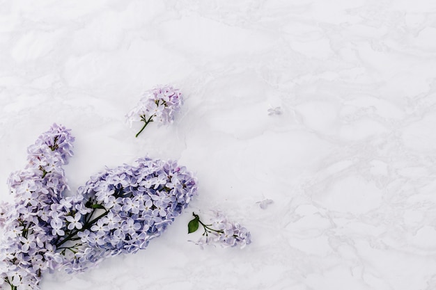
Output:
<instances>
[{"instance_id":1,"label":"small pale lilac sprig with a single dark green leaf","mask_svg":"<svg viewBox=\"0 0 436 290\"><path fill-rule=\"evenodd\" d=\"M201 249L203 249L203 245L215 244L223 247L238 246L244 248L251 243L251 234L245 227L239 223L231 223L219 212L216 212L215 219L209 225L203 223L197 214L192 213L192 215L194 219L188 223L188 234L196 232L200 225L203 227L203 234L198 241L194 242L196 245L200 245Z\"/></svg>"}]
</instances>

